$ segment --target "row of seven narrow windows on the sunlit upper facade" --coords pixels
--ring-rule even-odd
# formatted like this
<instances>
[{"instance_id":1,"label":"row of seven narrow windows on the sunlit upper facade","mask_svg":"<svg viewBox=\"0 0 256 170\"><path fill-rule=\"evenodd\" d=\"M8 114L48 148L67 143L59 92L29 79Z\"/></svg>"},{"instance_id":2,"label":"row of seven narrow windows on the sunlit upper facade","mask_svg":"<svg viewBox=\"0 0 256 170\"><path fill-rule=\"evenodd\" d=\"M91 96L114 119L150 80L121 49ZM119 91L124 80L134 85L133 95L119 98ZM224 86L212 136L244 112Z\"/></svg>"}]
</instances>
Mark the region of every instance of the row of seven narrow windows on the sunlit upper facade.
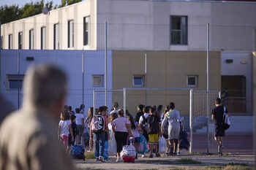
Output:
<instances>
[{"instance_id":1,"label":"row of seven narrow windows on the sunlit upper facade","mask_svg":"<svg viewBox=\"0 0 256 170\"><path fill-rule=\"evenodd\" d=\"M67 22L67 47L74 47L74 20ZM46 27L41 27L41 50L46 49ZM83 18L83 45L89 43L89 17ZM8 49L12 47L12 34L8 35ZM23 49L23 32L18 33L18 49ZM29 30L29 50L34 49L34 29ZM53 50L59 50L59 23L53 25Z\"/></svg>"}]
</instances>

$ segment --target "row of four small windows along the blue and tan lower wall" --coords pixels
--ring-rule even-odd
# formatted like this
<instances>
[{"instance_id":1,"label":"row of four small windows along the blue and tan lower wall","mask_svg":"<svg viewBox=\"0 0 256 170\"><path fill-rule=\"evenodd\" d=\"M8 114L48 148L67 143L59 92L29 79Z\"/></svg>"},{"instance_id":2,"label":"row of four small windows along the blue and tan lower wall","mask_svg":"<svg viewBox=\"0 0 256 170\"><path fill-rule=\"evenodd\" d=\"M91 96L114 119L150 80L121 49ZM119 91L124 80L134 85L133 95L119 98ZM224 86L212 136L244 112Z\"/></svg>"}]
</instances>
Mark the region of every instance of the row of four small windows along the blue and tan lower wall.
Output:
<instances>
[{"instance_id":1,"label":"row of four small windows along the blue and tan lower wall","mask_svg":"<svg viewBox=\"0 0 256 170\"><path fill-rule=\"evenodd\" d=\"M24 75L7 75L7 88L18 89L22 88ZM144 87L144 75L133 76L134 87ZM92 75L92 86L103 87L103 75ZM197 87L197 76L187 76L187 87Z\"/></svg>"}]
</instances>

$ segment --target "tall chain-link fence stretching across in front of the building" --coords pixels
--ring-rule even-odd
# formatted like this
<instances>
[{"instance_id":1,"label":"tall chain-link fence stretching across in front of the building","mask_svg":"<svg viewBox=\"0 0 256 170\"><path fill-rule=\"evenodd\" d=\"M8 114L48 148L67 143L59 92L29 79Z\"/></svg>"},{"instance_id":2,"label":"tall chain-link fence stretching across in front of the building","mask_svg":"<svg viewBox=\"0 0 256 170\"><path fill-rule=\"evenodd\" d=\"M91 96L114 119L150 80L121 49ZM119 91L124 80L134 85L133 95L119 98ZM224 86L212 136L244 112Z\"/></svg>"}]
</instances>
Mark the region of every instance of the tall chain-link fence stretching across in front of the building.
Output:
<instances>
[{"instance_id":1,"label":"tall chain-link fence stretching across in front of the building","mask_svg":"<svg viewBox=\"0 0 256 170\"><path fill-rule=\"evenodd\" d=\"M210 96L206 111L206 94L196 91L207 87L206 25L189 25L182 17L172 18L170 24L96 24L88 20L23 20L2 25L1 93L20 107L26 69L37 63L56 63L67 73L66 103L73 109L80 104L86 109L111 108L113 101L124 107L124 88L193 88L194 101L199 101L193 105L195 132L206 133L207 123L208 129L214 129L208 117L217 94ZM252 115L254 32L254 26L209 27L209 89L222 90L222 102L231 114ZM139 104L165 106L170 101L176 102L181 115L189 115L185 92L131 90L126 95L125 107L132 115ZM208 131L207 139L213 139L213 133ZM208 142L208 148L215 150L215 143Z\"/></svg>"}]
</instances>

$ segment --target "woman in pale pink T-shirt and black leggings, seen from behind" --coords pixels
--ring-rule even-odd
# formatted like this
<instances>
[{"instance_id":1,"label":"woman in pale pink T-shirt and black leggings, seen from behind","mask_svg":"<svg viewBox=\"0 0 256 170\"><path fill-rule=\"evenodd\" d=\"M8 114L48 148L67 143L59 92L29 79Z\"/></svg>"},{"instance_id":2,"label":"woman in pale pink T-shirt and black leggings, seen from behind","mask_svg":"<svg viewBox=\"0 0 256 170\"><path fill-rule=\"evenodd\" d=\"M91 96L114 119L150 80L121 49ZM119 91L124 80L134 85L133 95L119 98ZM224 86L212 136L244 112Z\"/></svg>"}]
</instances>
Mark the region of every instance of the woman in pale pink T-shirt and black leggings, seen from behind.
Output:
<instances>
[{"instance_id":1,"label":"woman in pale pink T-shirt and black leggings, seen from behind","mask_svg":"<svg viewBox=\"0 0 256 170\"><path fill-rule=\"evenodd\" d=\"M120 152L123 145L127 143L128 132L132 136L131 123L124 117L124 110L118 109L118 117L111 123L112 130L115 133L116 139L116 151L117 159L116 162L120 161Z\"/></svg>"}]
</instances>

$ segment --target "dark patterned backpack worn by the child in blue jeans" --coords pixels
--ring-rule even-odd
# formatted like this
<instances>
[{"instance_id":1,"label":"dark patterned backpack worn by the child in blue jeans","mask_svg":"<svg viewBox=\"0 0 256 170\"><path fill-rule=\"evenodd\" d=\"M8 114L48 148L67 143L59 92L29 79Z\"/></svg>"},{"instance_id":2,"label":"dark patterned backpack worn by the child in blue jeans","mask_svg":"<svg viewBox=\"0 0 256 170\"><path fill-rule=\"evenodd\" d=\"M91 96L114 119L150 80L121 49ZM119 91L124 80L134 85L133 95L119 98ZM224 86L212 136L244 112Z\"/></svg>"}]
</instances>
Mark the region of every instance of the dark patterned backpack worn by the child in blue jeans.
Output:
<instances>
[{"instance_id":1,"label":"dark patterned backpack worn by the child in blue jeans","mask_svg":"<svg viewBox=\"0 0 256 170\"><path fill-rule=\"evenodd\" d=\"M94 134L102 134L104 132L104 117L102 115L95 115L91 120L91 131Z\"/></svg>"}]
</instances>

